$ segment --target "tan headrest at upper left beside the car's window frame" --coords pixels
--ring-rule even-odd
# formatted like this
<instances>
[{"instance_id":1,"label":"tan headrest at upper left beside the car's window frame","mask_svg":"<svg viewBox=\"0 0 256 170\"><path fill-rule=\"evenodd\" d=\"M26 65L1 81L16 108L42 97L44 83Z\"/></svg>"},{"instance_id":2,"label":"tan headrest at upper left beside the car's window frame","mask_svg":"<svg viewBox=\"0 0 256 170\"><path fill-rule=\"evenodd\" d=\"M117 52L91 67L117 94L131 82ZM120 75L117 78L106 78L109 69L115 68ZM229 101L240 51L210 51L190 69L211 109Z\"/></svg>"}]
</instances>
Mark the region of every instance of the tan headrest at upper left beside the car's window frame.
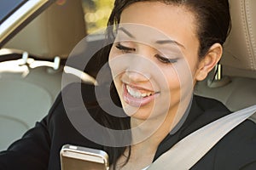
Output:
<instances>
[{"instance_id":1,"label":"tan headrest at upper left beside the car's window frame","mask_svg":"<svg viewBox=\"0 0 256 170\"><path fill-rule=\"evenodd\" d=\"M67 0L62 5L52 4L4 48L22 49L45 59L52 59L56 55L67 58L85 36L81 0Z\"/></svg>"}]
</instances>

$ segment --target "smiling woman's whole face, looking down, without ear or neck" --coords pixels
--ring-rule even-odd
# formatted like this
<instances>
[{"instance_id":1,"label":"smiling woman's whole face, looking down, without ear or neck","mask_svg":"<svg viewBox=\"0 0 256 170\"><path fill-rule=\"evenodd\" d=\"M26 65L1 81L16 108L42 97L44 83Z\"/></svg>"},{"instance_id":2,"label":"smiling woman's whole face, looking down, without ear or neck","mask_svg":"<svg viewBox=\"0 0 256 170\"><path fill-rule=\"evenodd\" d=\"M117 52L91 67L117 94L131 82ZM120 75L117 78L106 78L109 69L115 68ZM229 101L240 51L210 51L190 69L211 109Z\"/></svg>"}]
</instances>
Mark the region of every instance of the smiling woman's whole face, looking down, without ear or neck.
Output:
<instances>
[{"instance_id":1,"label":"smiling woman's whole face, looking down, without ear or neck","mask_svg":"<svg viewBox=\"0 0 256 170\"><path fill-rule=\"evenodd\" d=\"M125 8L119 24L109 65L125 113L138 120L177 116L201 77L194 14L140 2Z\"/></svg>"}]
</instances>

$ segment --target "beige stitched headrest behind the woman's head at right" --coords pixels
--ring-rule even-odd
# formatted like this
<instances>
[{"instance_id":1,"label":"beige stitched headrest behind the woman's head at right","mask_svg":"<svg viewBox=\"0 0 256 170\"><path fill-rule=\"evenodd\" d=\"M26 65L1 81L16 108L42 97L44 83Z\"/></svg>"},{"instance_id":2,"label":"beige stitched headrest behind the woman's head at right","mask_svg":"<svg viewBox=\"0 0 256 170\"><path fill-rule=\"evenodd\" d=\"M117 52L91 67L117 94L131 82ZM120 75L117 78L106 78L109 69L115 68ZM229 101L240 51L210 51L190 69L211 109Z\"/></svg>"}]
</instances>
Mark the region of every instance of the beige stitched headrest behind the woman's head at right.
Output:
<instances>
[{"instance_id":1,"label":"beige stitched headrest behind the woman's head at right","mask_svg":"<svg viewBox=\"0 0 256 170\"><path fill-rule=\"evenodd\" d=\"M224 44L224 74L256 77L256 1L230 0L232 29Z\"/></svg>"}]
</instances>

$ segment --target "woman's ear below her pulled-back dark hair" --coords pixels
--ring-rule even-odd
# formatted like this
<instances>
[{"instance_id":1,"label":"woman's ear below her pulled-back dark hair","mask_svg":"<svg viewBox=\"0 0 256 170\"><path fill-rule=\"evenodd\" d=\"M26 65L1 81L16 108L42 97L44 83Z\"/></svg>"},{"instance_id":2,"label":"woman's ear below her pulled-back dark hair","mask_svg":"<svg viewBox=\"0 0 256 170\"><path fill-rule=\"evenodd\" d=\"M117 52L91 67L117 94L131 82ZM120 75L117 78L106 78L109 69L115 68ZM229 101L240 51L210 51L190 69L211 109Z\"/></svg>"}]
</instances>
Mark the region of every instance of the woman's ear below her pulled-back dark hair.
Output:
<instances>
[{"instance_id":1,"label":"woman's ear below her pulled-back dark hair","mask_svg":"<svg viewBox=\"0 0 256 170\"><path fill-rule=\"evenodd\" d=\"M218 64L222 53L222 45L219 43L214 43L198 65L197 71L195 73L195 79L197 81L202 81L207 77L208 73L212 71L212 68Z\"/></svg>"}]
</instances>

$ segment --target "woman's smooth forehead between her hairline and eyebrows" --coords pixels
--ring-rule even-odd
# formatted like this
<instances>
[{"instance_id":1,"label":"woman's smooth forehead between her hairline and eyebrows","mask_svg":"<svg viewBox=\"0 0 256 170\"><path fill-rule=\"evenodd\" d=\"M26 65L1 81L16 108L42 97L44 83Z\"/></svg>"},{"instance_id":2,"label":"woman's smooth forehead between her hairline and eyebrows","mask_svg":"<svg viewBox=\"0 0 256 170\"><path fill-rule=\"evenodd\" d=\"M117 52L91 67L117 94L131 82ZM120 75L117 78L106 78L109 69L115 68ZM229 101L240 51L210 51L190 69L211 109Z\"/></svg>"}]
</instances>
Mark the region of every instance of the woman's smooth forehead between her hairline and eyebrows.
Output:
<instances>
[{"instance_id":1,"label":"woman's smooth forehead between her hairline and eyebrows","mask_svg":"<svg viewBox=\"0 0 256 170\"><path fill-rule=\"evenodd\" d=\"M120 24L131 23L154 28L166 37L171 37L184 46L189 42L198 42L196 37L195 15L183 5L172 5L160 2L132 3L121 14ZM129 29L128 29L129 30ZM153 37L153 29L143 31L131 28L134 37Z\"/></svg>"}]
</instances>

